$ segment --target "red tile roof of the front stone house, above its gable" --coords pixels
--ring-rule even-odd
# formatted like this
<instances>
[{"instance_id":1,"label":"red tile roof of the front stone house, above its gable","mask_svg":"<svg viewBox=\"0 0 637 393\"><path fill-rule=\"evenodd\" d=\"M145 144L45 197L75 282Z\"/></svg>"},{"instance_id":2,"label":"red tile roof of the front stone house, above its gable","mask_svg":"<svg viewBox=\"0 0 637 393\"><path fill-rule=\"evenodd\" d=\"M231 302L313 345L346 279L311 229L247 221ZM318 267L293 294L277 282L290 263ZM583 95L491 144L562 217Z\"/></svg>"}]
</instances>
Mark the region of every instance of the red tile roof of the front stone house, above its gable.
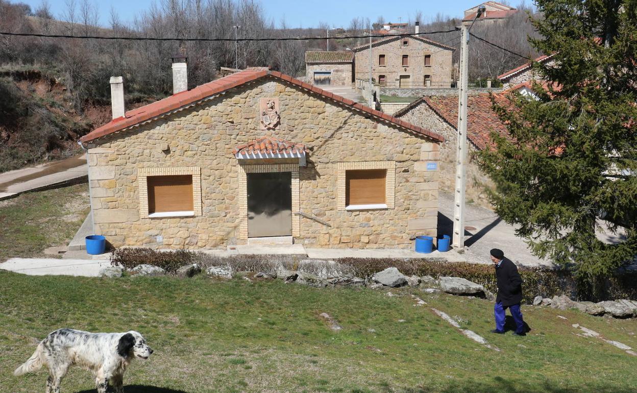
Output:
<instances>
[{"instance_id":1,"label":"red tile roof of the front stone house, above its gable","mask_svg":"<svg viewBox=\"0 0 637 393\"><path fill-rule=\"evenodd\" d=\"M82 136L82 138L80 138L80 141L89 142L108 134L113 134L114 132L123 131L124 129L133 127L134 125L139 125L151 120L155 120L155 118L158 118L161 115L165 115L166 113L169 113L171 111L186 108L187 106L197 104L199 103L199 101L208 97L222 94L230 89L233 89L234 87L239 87L241 85L244 85L245 83L254 82L255 80L266 77L275 78L276 80L283 80L285 82L291 83L292 85L296 85L297 87L308 90L308 92L313 92L319 94L320 96L329 98L332 101L340 105L347 106L352 110L361 111L364 113L364 115L368 115L380 121L389 122L408 131L427 136L434 141L445 141L445 138L440 134L437 134L436 132L424 129L417 125L403 122L403 120L399 120L390 115L387 115L387 113L373 110L368 106L355 103L351 99L338 96L316 86L301 82L300 80L292 78L292 76L282 74L278 71L268 70L245 70L239 73L234 73L232 75L225 76L224 78L214 80L213 82L208 82L201 86L197 86L192 90L180 92L174 94L173 96L142 106L141 108L127 111L124 117L115 118L111 120L111 122L94 129L85 136Z\"/></svg>"}]
</instances>

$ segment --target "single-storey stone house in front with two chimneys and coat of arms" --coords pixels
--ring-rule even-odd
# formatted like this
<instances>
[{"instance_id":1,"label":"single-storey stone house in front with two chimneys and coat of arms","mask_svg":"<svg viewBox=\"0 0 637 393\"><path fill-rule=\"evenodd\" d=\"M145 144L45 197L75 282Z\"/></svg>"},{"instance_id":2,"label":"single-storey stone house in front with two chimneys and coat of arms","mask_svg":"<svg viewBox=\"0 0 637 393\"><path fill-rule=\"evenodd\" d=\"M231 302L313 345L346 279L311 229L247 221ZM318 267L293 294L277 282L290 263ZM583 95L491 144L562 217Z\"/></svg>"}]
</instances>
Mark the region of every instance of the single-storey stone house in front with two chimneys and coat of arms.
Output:
<instances>
[{"instance_id":1,"label":"single-storey stone house in front with two chimneys and coat of arms","mask_svg":"<svg viewBox=\"0 0 637 393\"><path fill-rule=\"evenodd\" d=\"M115 247L410 248L436 235L436 132L266 70L127 112L122 78L111 96L113 120L80 141L95 230Z\"/></svg>"}]
</instances>

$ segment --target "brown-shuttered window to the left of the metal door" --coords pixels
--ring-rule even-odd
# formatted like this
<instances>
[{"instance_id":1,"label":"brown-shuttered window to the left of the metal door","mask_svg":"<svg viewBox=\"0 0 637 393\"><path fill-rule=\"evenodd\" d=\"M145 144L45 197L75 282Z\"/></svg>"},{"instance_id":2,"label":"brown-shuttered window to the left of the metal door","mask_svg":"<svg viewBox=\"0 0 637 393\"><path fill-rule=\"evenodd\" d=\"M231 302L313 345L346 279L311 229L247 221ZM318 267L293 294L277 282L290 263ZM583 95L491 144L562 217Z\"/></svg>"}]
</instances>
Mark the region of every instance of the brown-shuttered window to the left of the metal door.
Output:
<instances>
[{"instance_id":1,"label":"brown-shuttered window to the left of the metal door","mask_svg":"<svg viewBox=\"0 0 637 393\"><path fill-rule=\"evenodd\" d=\"M148 176L148 214L193 213L192 175Z\"/></svg>"}]
</instances>

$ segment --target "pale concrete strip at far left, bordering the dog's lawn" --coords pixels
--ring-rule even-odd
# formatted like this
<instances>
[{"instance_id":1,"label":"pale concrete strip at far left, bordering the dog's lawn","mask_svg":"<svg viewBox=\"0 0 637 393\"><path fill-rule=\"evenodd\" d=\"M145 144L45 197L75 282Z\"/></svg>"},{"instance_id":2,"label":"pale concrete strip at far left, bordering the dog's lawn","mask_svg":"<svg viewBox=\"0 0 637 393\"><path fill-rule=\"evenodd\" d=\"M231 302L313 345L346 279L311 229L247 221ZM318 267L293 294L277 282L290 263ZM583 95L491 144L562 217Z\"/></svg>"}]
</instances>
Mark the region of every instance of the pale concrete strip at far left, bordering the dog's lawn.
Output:
<instances>
[{"instance_id":1,"label":"pale concrete strip at far left, bordering the dog's lawn","mask_svg":"<svg viewBox=\"0 0 637 393\"><path fill-rule=\"evenodd\" d=\"M108 259L11 258L1 263L0 269L29 276L97 277L97 273L110 264Z\"/></svg>"}]
</instances>

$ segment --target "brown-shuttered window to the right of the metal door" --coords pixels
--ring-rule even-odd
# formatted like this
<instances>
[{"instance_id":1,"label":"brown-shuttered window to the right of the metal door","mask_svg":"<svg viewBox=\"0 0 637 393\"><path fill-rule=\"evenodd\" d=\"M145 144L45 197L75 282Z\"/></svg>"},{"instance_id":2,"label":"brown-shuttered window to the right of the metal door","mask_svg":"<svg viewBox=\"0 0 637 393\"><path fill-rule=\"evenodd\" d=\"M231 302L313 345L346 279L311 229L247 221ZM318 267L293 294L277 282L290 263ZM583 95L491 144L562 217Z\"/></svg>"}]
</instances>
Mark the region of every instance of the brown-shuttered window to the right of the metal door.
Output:
<instances>
[{"instance_id":1,"label":"brown-shuttered window to the right of the metal door","mask_svg":"<svg viewBox=\"0 0 637 393\"><path fill-rule=\"evenodd\" d=\"M385 204L387 169L350 170L345 174L345 204Z\"/></svg>"}]
</instances>

